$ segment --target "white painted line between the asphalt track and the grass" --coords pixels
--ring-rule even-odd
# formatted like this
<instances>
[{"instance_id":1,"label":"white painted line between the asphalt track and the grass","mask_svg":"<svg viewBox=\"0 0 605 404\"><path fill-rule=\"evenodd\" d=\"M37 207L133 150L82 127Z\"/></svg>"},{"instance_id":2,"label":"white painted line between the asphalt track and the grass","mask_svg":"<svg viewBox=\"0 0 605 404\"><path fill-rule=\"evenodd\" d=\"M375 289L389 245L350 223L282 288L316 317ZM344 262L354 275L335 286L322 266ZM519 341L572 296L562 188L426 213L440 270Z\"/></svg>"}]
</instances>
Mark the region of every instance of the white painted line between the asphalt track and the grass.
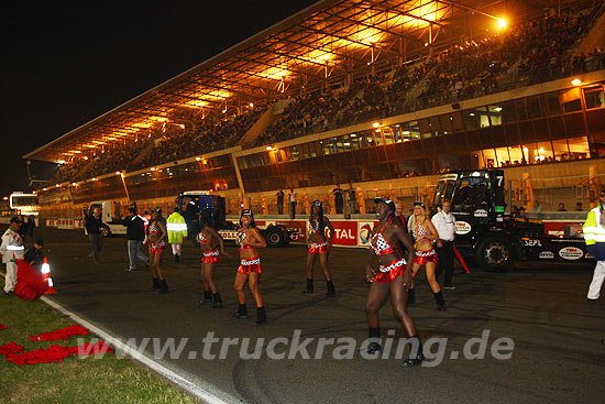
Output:
<instances>
[{"instance_id":1,"label":"white painted line between the asphalt track and the grass","mask_svg":"<svg viewBox=\"0 0 605 404\"><path fill-rule=\"evenodd\" d=\"M6 274L0 271L0 276L4 277ZM173 370L166 368L162 363L153 360L150 357L146 357L145 354L139 352L138 350L133 349L132 347L125 345L122 342L123 338L120 338L119 336L111 335L109 332L106 332L95 324L86 320L81 316L75 314L74 312L69 310L62 304L48 298L47 296L42 296L40 298L42 302L46 303L48 306L53 307L57 312L70 317L74 321L78 323L80 326L88 328L92 334L99 336L102 339L106 339L108 341L111 341L111 345L124 352L125 354L132 357L135 361L144 364L145 367L150 368L151 370L157 372L163 378L169 380L170 382L178 385L180 389L187 391L188 393L195 395L196 397L200 398L205 403L208 404L231 404L231 403L241 403L240 400L223 393L219 391L216 387L201 387L197 385L196 383L185 379L180 374L174 372Z\"/></svg>"}]
</instances>

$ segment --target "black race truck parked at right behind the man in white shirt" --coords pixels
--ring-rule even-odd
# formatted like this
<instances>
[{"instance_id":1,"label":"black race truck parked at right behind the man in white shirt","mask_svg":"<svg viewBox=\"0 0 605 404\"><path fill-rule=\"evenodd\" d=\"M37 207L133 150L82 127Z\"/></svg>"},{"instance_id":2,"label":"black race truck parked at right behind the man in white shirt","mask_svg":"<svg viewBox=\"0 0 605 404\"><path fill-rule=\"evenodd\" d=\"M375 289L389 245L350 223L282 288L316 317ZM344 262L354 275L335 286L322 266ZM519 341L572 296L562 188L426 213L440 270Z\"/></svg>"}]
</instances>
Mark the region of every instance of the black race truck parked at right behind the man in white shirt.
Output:
<instances>
[{"instance_id":1,"label":"black race truck parked at right behind the man in white shirt","mask_svg":"<svg viewBox=\"0 0 605 404\"><path fill-rule=\"evenodd\" d=\"M518 260L580 262L586 259L581 234L549 236L543 223L505 215L504 171L460 171L440 177L431 209L452 201L454 245L474 255L485 271L510 269Z\"/></svg>"}]
</instances>

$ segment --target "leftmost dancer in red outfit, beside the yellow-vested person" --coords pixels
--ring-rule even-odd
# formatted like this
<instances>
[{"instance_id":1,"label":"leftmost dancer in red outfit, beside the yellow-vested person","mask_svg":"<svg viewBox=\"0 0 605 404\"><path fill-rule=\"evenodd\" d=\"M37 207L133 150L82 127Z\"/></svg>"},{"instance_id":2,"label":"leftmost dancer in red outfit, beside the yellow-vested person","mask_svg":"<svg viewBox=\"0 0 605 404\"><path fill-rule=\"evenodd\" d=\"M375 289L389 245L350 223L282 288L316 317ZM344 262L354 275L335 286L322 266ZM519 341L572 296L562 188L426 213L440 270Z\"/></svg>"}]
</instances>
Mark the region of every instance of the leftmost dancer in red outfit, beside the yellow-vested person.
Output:
<instances>
[{"instance_id":1,"label":"leftmost dancer in red outfit, beside the yellow-vested person","mask_svg":"<svg viewBox=\"0 0 605 404\"><path fill-rule=\"evenodd\" d=\"M162 217L162 209L157 208L152 210L152 218L147 226L145 242L150 242L150 266L152 270L152 291L158 293L168 293L168 285L164 280L162 273L162 255L168 247L168 234L166 232L166 226L164 225L164 218Z\"/></svg>"}]
</instances>

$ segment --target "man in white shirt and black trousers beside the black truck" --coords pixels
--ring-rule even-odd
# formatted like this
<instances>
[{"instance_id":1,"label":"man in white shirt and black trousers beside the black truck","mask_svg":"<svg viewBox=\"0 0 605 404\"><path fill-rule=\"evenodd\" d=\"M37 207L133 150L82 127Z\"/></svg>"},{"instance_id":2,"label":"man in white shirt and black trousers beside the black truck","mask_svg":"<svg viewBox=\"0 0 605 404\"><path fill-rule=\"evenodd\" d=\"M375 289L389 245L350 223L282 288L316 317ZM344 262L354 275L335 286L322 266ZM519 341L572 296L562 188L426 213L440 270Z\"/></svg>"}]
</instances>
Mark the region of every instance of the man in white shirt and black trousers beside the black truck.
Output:
<instances>
[{"instance_id":1,"label":"man in white shirt and black trousers beside the black truck","mask_svg":"<svg viewBox=\"0 0 605 404\"><path fill-rule=\"evenodd\" d=\"M435 215L431 219L432 225L437 229L439 240L437 241L437 254L439 262L437 264L436 277L439 279L441 272L446 272L443 288L454 290L452 284L453 276L453 240L455 237L455 217L450 212L452 204L446 199L441 204L441 211Z\"/></svg>"}]
</instances>

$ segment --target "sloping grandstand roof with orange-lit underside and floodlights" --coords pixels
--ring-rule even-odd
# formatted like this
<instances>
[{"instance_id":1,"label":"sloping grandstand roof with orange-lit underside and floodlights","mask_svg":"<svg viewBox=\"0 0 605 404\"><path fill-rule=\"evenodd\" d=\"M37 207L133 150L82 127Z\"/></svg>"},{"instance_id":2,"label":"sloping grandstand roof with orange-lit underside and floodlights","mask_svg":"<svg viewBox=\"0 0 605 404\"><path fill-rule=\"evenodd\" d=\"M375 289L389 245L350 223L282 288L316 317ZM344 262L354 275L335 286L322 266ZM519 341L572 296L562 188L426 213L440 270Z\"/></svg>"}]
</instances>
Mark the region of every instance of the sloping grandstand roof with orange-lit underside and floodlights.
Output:
<instances>
[{"instance_id":1,"label":"sloping grandstand roof with orange-lit underside and floodlights","mask_svg":"<svg viewBox=\"0 0 605 404\"><path fill-rule=\"evenodd\" d=\"M444 46L502 1L323 0L24 155L59 162L200 113L268 103ZM542 3L541 7L544 4ZM477 18L479 17L479 18Z\"/></svg>"}]
</instances>

